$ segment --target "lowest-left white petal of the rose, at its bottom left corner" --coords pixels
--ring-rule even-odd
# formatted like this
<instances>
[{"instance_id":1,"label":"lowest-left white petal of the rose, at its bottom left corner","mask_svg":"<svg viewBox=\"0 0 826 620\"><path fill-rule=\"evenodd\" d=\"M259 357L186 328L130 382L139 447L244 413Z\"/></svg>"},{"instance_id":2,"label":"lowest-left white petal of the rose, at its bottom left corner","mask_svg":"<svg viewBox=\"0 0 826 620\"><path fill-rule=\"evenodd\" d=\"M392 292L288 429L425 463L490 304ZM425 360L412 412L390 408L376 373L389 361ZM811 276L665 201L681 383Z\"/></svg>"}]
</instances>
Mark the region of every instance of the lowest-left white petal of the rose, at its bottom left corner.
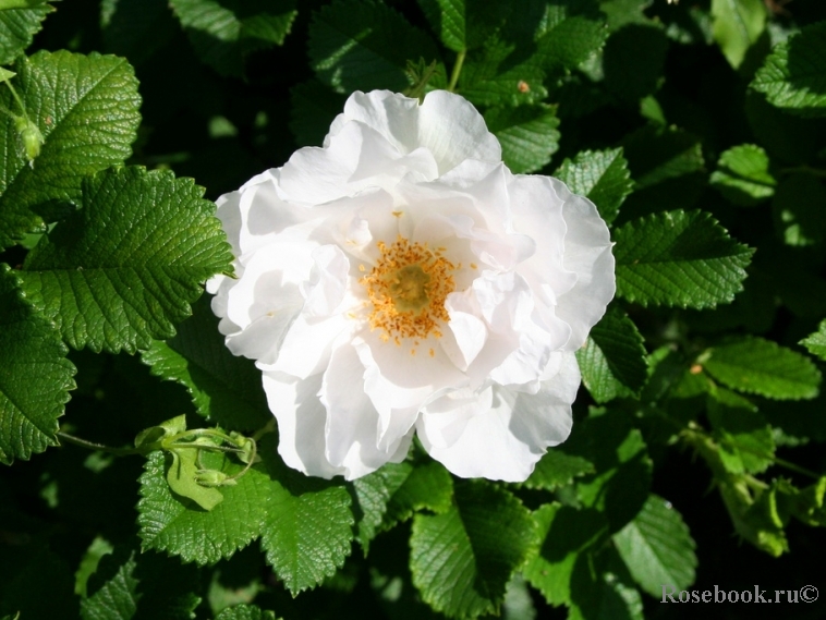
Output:
<instances>
[{"instance_id":1,"label":"lowest-left white petal of the rose, at its bottom left corner","mask_svg":"<svg viewBox=\"0 0 826 620\"><path fill-rule=\"evenodd\" d=\"M269 410L278 421L278 453L290 467L311 476L331 478L343 467L325 455L327 411L318 400L321 375L296 379L281 373L264 373Z\"/></svg>"}]
</instances>

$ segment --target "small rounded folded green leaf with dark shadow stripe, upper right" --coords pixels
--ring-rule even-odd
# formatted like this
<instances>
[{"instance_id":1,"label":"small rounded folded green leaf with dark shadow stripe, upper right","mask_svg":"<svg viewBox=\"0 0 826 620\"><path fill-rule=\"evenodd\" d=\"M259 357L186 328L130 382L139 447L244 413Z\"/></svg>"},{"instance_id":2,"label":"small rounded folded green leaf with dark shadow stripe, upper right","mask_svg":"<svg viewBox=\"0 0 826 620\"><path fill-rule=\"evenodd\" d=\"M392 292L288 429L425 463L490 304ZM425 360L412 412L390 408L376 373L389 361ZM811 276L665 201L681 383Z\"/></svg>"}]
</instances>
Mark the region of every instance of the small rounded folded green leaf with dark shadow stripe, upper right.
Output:
<instances>
[{"instance_id":1,"label":"small rounded folded green leaf with dark shadow stripe, upper right","mask_svg":"<svg viewBox=\"0 0 826 620\"><path fill-rule=\"evenodd\" d=\"M741 207L752 207L770 197L777 185L768 171L768 155L753 144L734 146L720 155L710 183Z\"/></svg>"}]
</instances>

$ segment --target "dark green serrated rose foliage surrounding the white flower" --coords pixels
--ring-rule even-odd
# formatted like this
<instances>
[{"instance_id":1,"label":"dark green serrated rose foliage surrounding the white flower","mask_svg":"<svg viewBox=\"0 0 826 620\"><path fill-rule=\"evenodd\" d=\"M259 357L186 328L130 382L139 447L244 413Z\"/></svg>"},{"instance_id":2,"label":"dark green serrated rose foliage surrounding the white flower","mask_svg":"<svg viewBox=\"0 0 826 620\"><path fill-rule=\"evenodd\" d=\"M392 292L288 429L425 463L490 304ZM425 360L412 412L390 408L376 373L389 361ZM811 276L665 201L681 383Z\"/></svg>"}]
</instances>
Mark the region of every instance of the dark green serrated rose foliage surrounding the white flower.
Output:
<instances>
[{"instance_id":1,"label":"dark green serrated rose foliage surrounding the white flower","mask_svg":"<svg viewBox=\"0 0 826 620\"><path fill-rule=\"evenodd\" d=\"M664 584L737 567L752 587L824 542L823 7L12 4L0 618L639 619ZM463 95L514 173L609 224L617 297L576 352L573 431L521 485L415 446L353 483L290 470L202 294L232 260L204 196L320 145L373 88ZM258 458L160 445L207 427Z\"/></svg>"}]
</instances>

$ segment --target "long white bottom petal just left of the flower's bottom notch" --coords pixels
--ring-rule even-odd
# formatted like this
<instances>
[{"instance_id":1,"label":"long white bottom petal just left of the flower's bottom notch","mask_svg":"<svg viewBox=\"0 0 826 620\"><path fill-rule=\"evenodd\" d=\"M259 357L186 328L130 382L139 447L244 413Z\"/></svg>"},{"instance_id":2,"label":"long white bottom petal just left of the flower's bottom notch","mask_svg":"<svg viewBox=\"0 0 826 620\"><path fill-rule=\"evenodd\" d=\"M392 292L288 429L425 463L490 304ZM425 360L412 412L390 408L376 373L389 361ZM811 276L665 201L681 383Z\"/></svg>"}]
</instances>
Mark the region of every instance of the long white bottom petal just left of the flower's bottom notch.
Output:
<instances>
[{"instance_id":1,"label":"long white bottom petal just left of the flower's bottom notch","mask_svg":"<svg viewBox=\"0 0 826 620\"><path fill-rule=\"evenodd\" d=\"M333 351L324 374L321 403L327 408L327 460L354 479L387 463L399 452L406 452L412 433L396 437L386 447L378 446L378 412L364 391L364 366L355 350L342 345Z\"/></svg>"}]
</instances>

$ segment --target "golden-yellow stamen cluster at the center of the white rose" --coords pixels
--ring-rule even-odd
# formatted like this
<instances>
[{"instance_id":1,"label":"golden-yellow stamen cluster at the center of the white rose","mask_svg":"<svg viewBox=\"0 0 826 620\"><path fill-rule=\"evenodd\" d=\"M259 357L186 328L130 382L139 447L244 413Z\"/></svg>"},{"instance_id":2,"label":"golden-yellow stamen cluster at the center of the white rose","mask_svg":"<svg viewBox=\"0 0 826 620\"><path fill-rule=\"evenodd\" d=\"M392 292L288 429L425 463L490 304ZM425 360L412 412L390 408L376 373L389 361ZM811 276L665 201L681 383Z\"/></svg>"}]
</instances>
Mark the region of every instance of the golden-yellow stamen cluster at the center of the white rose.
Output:
<instances>
[{"instance_id":1,"label":"golden-yellow stamen cluster at the center of the white rose","mask_svg":"<svg viewBox=\"0 0 826 620\"><path fill-rule=\"evenodd\" d=\"M449 316L445 300L453 292L457 267L442 256L444 247L411 242L399 235L392 245L378 242L380 256L360 282L367 289L371 331L381 329L381 340L441 337L439 327ZM416 342L416 344L418 344Z\"/></svg>"}]
</instances>

